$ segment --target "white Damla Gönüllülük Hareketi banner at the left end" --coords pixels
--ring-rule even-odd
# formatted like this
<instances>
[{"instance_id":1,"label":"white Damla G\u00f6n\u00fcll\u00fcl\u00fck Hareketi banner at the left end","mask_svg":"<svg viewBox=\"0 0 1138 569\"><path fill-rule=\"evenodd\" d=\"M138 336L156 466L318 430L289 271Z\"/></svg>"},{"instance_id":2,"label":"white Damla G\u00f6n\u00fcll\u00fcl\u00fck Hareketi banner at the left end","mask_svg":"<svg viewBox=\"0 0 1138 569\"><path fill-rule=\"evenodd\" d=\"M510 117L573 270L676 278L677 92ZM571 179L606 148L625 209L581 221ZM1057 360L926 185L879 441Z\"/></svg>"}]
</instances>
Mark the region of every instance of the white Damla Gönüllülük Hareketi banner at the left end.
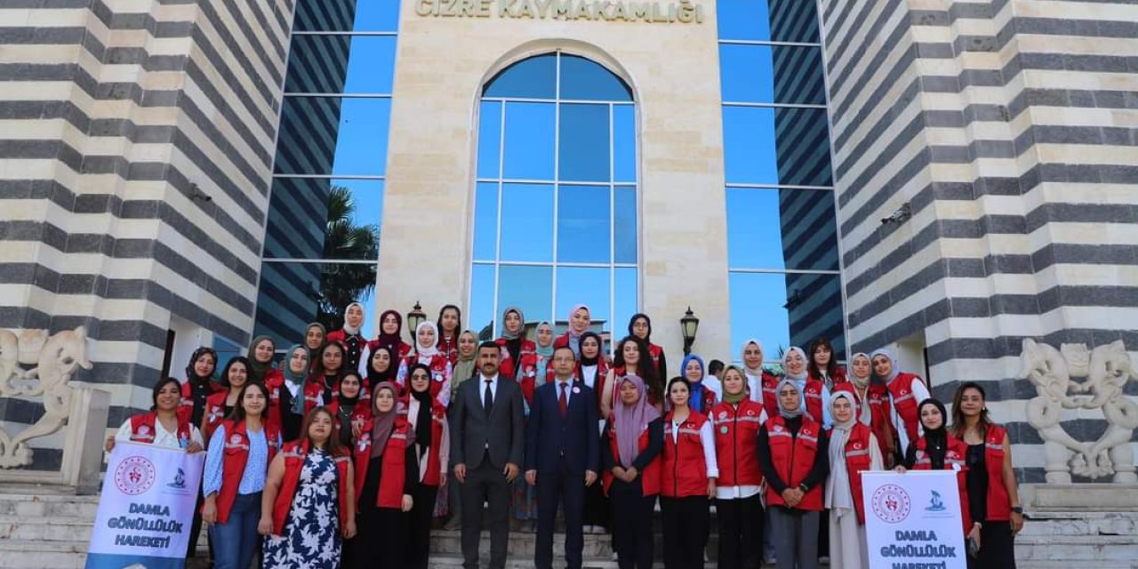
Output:
<instances>
[{"instance_id":1,"label":"white Damla G\u00f6n\u00fcll\u00fcl\u00fck Hareketi banner at the left end","mask_svg":"<svg viewBox=\"0 0 1138 569\"><path fill-rule=\"evenodd\" d=\"M86 569L181 569L205 453L116 443L102 480Z\"/></svg>"}]
</instances>

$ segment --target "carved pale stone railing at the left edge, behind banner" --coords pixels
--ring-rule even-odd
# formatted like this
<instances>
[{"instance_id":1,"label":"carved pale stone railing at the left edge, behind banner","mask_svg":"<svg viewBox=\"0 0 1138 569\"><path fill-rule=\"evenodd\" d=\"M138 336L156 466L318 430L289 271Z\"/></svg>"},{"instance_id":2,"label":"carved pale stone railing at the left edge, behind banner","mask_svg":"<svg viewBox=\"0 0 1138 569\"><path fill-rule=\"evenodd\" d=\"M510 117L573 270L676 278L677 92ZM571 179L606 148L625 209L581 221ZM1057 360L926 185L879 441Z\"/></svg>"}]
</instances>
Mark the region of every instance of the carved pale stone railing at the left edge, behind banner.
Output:
<instances>
[{"instance_id":1,"label":"carved pale stone railing at the left edge, behind banner","mask_svg":"<svg viewBox=\"0 0 1138 569\"><path fill-rule=\"evenodd\" d=\"M0 428L0 483L57 484L80 493L98 488L110 396L73 387L80 368L91 369L84 327L50 336L47 330L0 330L0 397L43 407L34 423L15 435ZM30 443L64 427L59 470L28 469L34 455Z\"/></svg>"}]
</instances>

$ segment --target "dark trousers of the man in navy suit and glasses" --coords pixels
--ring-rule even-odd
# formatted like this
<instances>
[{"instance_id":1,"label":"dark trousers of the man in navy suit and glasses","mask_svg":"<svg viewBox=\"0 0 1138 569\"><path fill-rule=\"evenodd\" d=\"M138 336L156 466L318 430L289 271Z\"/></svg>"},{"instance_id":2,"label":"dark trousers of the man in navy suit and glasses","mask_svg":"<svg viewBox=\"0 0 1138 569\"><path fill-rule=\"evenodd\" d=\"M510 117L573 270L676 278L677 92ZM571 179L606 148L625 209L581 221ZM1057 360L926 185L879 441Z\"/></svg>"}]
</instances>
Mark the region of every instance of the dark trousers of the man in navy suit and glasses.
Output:
<instances>
[{"instance_id":1,"label":"dark trousers of the man in navy suit and glasses","mask_svg":"<svg viewBox=\"0 0 1138 569\"><path fill-rule=\"evenodd\" d=\"M558 519L558 504L566 516L566 562L568 569L580 569L585 535L582 516L585 510L585 472L571 472L564 459L558 469L537 472L537 546L534 563L537 569L553 567L553 531Z\"/></svg>"}]
</instances>

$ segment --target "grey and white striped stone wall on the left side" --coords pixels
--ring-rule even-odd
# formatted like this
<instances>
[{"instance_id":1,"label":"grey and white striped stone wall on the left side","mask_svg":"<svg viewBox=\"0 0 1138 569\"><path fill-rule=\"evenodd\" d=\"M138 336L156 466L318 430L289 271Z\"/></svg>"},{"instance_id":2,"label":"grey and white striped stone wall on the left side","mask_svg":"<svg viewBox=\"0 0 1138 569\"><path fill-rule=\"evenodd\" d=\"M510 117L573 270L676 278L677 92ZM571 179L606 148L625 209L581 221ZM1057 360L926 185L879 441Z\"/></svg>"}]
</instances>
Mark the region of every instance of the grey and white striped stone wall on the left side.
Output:
<instances>
[{"instance_id":1,"label":"grey and white striped stone wall on the left side","mask_svg":"<svg viewBox=\"0 0 1138 569\"><path fill-rule=\"evenodd\" d=\"M294 2L0 2L0 328L85 324L112 424L172 318L248 339Z\"/></svg>"}]
</instances>

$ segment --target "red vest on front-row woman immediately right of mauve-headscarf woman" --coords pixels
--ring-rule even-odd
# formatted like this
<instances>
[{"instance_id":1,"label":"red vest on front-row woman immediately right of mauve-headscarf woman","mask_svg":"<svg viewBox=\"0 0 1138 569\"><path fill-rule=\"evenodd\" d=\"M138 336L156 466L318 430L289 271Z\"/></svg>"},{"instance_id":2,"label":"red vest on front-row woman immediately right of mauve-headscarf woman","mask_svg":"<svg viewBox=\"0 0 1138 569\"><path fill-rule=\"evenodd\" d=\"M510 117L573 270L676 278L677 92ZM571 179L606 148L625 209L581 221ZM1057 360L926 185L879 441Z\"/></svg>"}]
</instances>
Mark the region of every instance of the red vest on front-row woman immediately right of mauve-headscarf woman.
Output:
<instances>
[{"instance_id":1,"label":"red vest on front-row woman immediately right of mauve-headscarf woman","mask_svg":"<svg viewBox=\"0 0 1138 569\"><path fill-rule=\"evenodd\" d=\"M673 443L671 413L663 418L663 461L660 464L660 495L667 497L706 496L708 493L707 463L703 462L703 443L700 429L707 415L691 411L679 424L679 436Z\"/></svg>"}]
</instances>

